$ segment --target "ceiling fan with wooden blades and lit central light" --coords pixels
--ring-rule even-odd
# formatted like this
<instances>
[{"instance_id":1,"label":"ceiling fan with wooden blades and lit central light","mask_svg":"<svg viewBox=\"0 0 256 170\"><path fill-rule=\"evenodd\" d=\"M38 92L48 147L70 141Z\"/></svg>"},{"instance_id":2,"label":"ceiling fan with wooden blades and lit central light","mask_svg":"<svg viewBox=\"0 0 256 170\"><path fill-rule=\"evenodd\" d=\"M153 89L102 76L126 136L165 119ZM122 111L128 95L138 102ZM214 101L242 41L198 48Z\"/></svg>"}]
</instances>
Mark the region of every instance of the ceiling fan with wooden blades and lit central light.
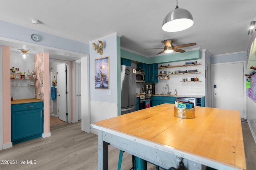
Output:
<instances>
[{"instance_id":1,"label":"ceiling fan with wooden blades and lit central light","mask_svg":"<svg viewBox=\"0 0 256 170\"><path fill-rule=\"evenodd\" d=\"M190 47L193 45L196 45L196 43L189 43L189 44L182 44L182 45L175 45L173 46L172 43L177 41L175 38L169 38L169 39L164 39L161 42L164 43L164 48L156 48L156 49L164 49L163 51L160 51L158 54L161 53L172 53L173 51L179 52L179 53L184 53L185 50L178 49L178 48L183 48L183 47ZM144 50L149 50L149 49L144 49Z\"/></svg>"}]
</instances>

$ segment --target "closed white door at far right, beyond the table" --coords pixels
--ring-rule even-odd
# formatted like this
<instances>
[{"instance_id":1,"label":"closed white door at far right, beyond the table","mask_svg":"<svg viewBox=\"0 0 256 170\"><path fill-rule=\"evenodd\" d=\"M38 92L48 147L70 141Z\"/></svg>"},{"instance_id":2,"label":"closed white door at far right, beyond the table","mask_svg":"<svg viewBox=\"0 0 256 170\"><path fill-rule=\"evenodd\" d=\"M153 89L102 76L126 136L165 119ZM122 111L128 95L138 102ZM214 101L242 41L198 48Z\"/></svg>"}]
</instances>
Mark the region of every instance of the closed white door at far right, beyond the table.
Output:
<instances>
[{"instance_id":1,"label":"closed white door at far right, beyond the table","mask_svg":"<svg viewBox=\"0 0 256 170\"><path fill-rule=\"evenodd\" d=\"M212 106L239 110L244 118L244 63L212 64ZM221 117L220 117L221 119Z\"/></svg>"}]
</instances>

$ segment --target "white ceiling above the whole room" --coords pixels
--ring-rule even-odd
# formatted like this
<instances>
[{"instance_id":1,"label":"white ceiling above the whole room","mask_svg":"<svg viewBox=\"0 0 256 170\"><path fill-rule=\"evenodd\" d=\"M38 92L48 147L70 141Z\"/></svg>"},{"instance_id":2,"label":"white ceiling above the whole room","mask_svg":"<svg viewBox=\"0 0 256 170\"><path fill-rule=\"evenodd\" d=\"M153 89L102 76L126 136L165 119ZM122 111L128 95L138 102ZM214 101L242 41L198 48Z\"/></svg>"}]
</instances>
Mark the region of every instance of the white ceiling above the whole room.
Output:
<instances>
[{"instance_id":1,"label":"white ceiling above the whole room","mask_svg":"<svg viewBox=\"0 0 256 170\"><path fill-rule=\"evenodd\" d=\"M174 45L207 49L210 55L246 51L256 20L255 0L178 0L192 14L194 25L175 33L162 30L164 17L176 0L0 0L0 20L89 43L114 32L122 34L121 47L146 57L156 56L163 39ZM31 19L42 21L34 25Z\"/></svg>"}]
</instances>

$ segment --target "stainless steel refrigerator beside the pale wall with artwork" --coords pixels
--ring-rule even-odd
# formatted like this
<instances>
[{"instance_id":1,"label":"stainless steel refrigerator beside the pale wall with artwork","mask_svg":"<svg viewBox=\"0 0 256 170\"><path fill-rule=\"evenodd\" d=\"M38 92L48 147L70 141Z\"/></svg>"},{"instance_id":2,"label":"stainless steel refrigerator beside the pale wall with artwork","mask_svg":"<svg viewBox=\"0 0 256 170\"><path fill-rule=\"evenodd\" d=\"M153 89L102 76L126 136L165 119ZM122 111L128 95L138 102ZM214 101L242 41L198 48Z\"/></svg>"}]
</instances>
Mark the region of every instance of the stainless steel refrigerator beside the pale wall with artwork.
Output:
<instances>
[{"instance_id":1,"label":"stainless steel refrigerator beside the pale wall with artwork","mask_svg":"<svg viewBox=\"0 0 256 170\"><path fill-rule=\"evenodd\" d=\"M136 111L136 68L121 65L121 115Z\"/></svg>"}]
</instances>

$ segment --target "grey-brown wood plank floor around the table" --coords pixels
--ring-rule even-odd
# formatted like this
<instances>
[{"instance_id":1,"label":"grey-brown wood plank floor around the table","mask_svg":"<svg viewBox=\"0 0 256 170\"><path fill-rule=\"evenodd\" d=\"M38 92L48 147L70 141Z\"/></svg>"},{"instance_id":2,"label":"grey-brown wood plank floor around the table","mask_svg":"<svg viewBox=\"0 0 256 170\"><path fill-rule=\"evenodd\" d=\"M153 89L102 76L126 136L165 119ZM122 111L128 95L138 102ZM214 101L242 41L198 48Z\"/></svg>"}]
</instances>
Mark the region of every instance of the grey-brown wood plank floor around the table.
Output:
<instances>
[{"instance_id":1,"label":"grey-brown wood plank floor around the table","mask_svg":"<svg viewBox=\"0 0 256 170\"><path fill-rule=\"evenodd\" d=\"M242 123L247 170L256 170L255 142L247 123ZM62 123L50 127L51 137L37 138L0 150L0 160L15 164L0 164L0 170L98 170L97 135L81 131L81 122ZM109 147L109 169L116 170L119 150ZM25 164L18 164L25 161ZM31 161L36 164L28 164ZM20 162L21 163L21 162ZM132 167L132 156L124 152L122 170ZM148 164L148 170L155 170Z\"/></svg>"}]
</instances>

